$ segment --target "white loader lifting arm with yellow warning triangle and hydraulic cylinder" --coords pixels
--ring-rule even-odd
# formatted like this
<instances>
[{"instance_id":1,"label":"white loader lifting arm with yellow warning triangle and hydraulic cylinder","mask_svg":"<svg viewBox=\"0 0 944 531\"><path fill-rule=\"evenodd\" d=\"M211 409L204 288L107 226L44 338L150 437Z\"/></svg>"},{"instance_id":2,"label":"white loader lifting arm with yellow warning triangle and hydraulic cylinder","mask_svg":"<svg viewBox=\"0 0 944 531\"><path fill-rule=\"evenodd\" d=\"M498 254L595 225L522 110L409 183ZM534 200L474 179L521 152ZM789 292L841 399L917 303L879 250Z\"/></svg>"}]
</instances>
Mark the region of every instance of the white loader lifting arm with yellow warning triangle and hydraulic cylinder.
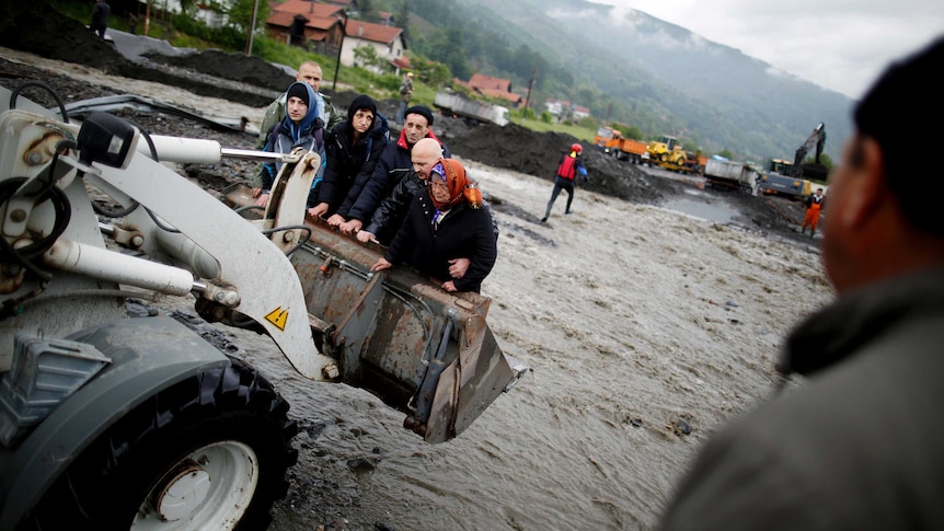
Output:
<instances>
[{"instance_id":1,"label":"white loader lifting arm with yellow warning triangle and hydraulic cylinder","mask_svg":"<svg viewBox=\"0 0 944 531\"><path fill-rule=\"evenodd\" d=\"M93 115L79 128L46 116L9 111L0 117L0 127L14 140L2 146L2 171L24 180L7 201L4 235L22 240L30 233L46 232L43 224L53 226L49 215L33 210L30 189L56 181L56 186L69 195L76 219L66 220L68 231L44 253L46 266L163 293L194 291L257 322L304 377L334 379L334 360L314 346L301 286L285 253L223 203L138 151L137 134L127 123L111 115ZM62 142L73 142L74 148L57 153ZM216 146L216 153L210 154L218 160L220 148ZM200 151L206 153L206 149ZM308 176L307 163L286 168L297 169L300 178ZM194 258L157 264L107 249L101 242L97 221L80 207L91 203L87 183L125 207L139 205L123 229L140 240L137 249L152 256L158 250L186 249ZM298 216L303 216L303 210ZM288 234L297 239L298 232ZM194 272L198 272L196 277Z\"/></svg>"}]
</instances>

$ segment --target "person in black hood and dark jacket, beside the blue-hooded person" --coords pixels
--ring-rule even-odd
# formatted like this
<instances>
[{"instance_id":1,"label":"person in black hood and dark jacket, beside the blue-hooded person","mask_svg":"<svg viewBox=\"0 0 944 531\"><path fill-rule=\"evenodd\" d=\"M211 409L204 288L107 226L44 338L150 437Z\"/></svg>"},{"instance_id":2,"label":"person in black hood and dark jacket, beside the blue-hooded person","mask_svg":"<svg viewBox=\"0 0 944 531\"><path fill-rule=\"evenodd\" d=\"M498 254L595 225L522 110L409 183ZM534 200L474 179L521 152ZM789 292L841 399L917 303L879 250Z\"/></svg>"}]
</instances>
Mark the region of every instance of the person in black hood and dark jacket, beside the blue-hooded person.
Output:
<instances>
[{"instance_id":1,"label":"person in black hood and dark jacket, beside the blue-hooded person","mask_svg":"<svg viewBox=\"0 0 944 531\"><path fill-rule=\"evenodd\" d=\"M308 209L312 217L333 215L361 175L361 182L373 173L377 159L390 141L387 119L377 114L370 96L359 95L347 107L347 120L335 125L325 140L327 166L324 178Z\"/></svg>"}]
</instances>

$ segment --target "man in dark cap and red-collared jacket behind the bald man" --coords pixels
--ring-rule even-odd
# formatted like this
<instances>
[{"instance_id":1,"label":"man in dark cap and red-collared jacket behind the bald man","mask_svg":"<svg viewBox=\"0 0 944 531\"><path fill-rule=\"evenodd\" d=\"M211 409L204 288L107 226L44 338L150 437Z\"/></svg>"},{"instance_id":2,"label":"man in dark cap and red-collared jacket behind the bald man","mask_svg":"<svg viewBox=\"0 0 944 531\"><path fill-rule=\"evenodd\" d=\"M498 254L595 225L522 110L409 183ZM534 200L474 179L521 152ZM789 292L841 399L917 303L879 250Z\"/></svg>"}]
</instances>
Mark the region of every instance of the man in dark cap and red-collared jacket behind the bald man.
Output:
<instances>
[{"instance_id":1,"label":"man in dark cap and red-collared jacket behind the bald man","mask_svg":"<svg viewBox=\"0 0 944 531\"><path fill-rule=\"evenodd\" d=\"M345 234L362 229L396 183L413 173L410 152L421 139L436 139L431 127L433 112L428 107L414 105L407 108L406 123L400 131L400 138L396 142L387 146L369 178L365 178L362 183L354 183L337 212L327 219L329 224L339 228ZM449 149L446 146L442 146L442 152L445 157L449 157Z\"/></svg>"}]
</instances>

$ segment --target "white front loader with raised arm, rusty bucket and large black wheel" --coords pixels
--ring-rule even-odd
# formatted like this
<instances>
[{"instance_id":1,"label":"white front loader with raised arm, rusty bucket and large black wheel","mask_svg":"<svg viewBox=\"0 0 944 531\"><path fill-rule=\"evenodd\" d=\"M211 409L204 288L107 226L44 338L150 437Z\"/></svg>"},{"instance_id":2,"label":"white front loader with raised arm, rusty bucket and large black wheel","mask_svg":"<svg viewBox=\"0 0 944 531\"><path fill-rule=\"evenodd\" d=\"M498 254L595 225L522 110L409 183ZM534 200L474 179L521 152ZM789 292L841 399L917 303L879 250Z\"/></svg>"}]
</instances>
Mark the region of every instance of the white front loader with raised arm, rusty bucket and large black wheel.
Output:
<instances>
[{"instance_id":1,"label":"white front loader with raised arm, rusty bucket and large black wheel","mask_svg":"<svg viewBox=\"0 0 944 531\"><path fill-rule=\"evenodd\" d=\"M264 529L286 495L287 401L140 301L193 299L430 443L527 372L487 297L373 274L381 250L304 219L316 153L149 135L102 112L77 124L18 95L0 88L0 529ZM222 158L281 163L263 211L168 165Z\"/></svg>"}]
</instances>

